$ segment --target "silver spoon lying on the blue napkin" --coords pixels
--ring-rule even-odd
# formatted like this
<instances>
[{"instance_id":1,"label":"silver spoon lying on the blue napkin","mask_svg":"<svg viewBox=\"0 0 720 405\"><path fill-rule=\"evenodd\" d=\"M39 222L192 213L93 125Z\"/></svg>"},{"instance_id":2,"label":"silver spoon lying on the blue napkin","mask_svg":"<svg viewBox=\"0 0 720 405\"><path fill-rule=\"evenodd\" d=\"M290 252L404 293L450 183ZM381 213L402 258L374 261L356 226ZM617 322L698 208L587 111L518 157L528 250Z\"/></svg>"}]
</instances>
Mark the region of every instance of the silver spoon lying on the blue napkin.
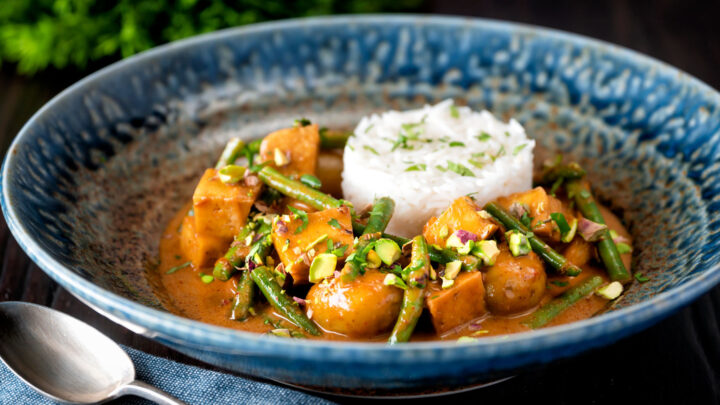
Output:
<instances>
[{"instance_id":1,"label":"silver spoon lying on the blue napkin","mask_svg":"<svg viewBox=\"0 0 720 405\"><path fill-rule=\"evenodd\" d=\"M135 379L127 353L97 329L62 312L25 302L0 302L0 360L56 401L94 404L136 395L184 404Z\"/></svg>"}]
</instances>

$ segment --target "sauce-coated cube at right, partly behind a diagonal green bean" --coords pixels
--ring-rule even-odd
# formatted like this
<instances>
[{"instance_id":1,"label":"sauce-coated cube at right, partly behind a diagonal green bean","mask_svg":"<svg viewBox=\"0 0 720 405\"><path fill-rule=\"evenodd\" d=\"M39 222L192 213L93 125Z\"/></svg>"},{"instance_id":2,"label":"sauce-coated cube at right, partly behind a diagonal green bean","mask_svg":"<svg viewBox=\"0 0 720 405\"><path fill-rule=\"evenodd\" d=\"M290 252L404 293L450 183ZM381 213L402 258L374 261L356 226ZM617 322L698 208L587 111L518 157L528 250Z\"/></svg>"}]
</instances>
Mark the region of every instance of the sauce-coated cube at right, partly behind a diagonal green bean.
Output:
<instances>
[{"instance_id":1,"label":"sauce-coated cube at right, partly behind a diagonal green bean","mask_svg":"<svg viewBox=\"0 0 720 405\"><path fill-rule=\"evenodd\" d=\"M514 203L526 205L529 209L528 216L532 218L530 222L532 231L554 242L560 242L561 235L550 214L556 212L563 214L568 224L575 219L570 209L557 198L548 195L542 187L499 198L498 203L507 210L510 210Z\"/></svg>"}]
</instances>

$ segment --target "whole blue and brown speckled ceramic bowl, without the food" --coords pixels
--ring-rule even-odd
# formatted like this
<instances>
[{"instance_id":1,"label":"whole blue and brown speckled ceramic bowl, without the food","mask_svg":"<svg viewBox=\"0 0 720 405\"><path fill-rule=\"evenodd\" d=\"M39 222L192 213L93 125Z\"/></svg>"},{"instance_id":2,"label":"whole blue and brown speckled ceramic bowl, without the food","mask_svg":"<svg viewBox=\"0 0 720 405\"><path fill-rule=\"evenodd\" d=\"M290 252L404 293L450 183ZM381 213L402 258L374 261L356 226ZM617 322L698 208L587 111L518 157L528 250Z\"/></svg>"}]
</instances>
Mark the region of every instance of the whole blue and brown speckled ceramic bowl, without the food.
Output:
<instances>
[{"instance_id":1,"label":"whole blue and brown speckled ceramic bowl, without the food","mask_svg":"<svg viewBox=\"0 0 720 405\"><path fill-rule=\"evenodd\" d=\"M453 97L580 160L650 276L601 316L477 343L288 340L172 315L158 238L231 135L299 116L352 126ZM211 364L319 387L476 383L606 345L720 281L720 95L661 62L561 32L423 16L315 18L173 43L43 107L2 171L2 208L50 276L108 317Z\"/></svg>"}]
</instances>

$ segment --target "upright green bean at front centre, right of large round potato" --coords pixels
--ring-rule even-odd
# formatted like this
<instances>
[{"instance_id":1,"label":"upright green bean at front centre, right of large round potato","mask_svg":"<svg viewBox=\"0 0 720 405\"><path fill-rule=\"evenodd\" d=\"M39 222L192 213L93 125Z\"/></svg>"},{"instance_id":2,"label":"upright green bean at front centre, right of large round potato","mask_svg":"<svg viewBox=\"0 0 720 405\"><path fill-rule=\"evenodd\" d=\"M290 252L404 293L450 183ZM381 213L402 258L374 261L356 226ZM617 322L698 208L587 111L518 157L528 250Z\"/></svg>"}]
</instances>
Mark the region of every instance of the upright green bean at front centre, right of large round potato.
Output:
<instances>
[{"instance_id":1,"label":"upright green bean at front centre, right of large round potato","mask_svg":"<svg viewBox=\"0 0 720 405\"><path fill-rule=\"evenodd\" d=\"M390 344L410 340L423 311L425 288L430 273L430 257L428 256L427 242L422 235L414 237L412 243L410 265L407 267L409 273L405 280L408 288L403 294L400 315L388 340Z\"/></svg>"}]
</instances>

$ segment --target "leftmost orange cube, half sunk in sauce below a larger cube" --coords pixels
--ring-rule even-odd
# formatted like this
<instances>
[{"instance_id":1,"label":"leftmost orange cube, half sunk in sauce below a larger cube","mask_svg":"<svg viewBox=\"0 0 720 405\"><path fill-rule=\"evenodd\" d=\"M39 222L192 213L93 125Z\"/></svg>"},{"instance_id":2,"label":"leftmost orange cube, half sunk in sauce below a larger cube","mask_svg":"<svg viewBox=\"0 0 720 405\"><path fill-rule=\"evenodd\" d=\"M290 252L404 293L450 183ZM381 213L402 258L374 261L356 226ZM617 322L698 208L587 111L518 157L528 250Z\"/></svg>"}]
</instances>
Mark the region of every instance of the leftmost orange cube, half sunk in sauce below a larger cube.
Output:
<instances>
[{"instance_id":1,"label":"leftmost orange cube, half sunk in sauce below a larger cube","mask_svg":"<svg viewBox=\"0 0 720 405\"><path fill-rule=\"evenodd\" d=\"M183 219L180 232L180 246L185 257L192 261L196 269L212 266L230 246L232 239L218 238L213 235L200 235L195 229L195 217Z\"/></svg>"}]
</instances>

